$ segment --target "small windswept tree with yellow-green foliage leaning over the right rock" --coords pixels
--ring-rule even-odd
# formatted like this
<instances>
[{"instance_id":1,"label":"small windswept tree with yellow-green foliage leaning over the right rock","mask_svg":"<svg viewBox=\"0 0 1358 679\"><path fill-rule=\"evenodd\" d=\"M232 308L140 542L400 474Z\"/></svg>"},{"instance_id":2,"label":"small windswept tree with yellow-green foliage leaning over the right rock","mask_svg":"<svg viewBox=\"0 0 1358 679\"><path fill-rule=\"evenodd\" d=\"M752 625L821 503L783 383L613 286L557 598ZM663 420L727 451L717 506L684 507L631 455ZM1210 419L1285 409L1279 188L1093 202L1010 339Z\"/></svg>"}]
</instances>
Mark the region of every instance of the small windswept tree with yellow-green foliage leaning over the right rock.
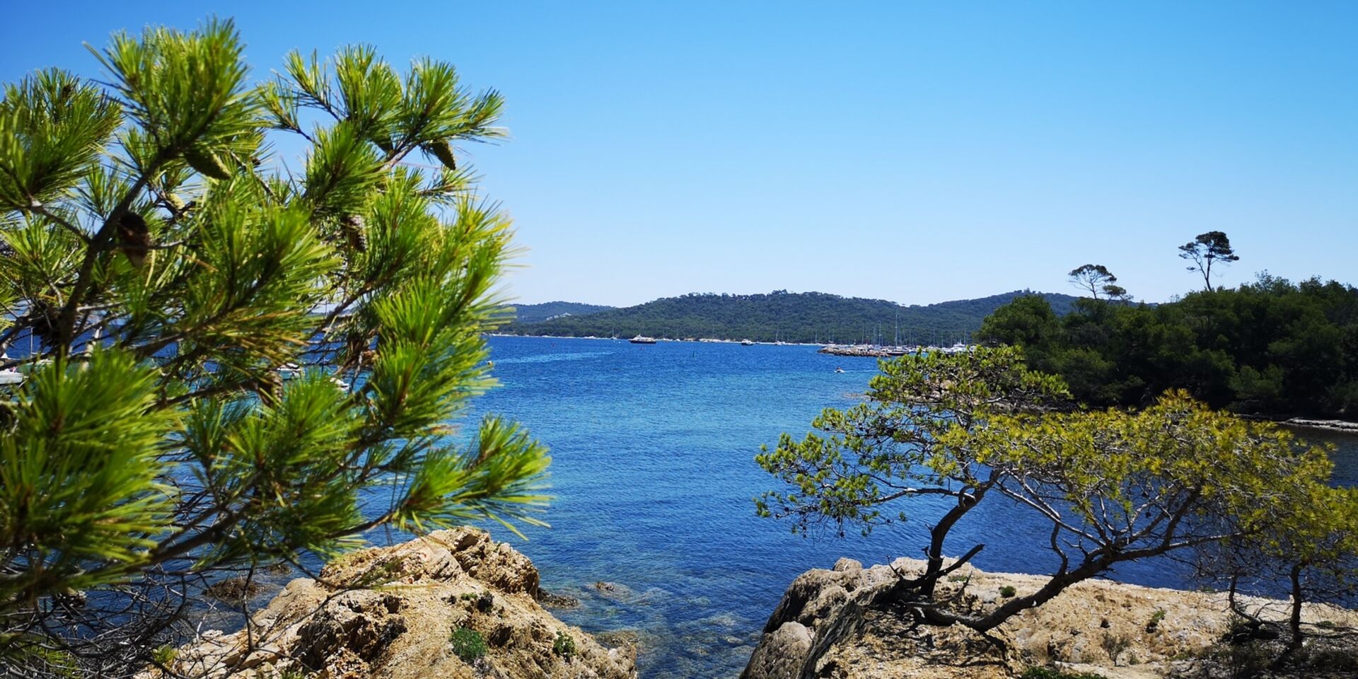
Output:
<instances>
[{"instance_id":1,"label":"small windswept tree with yellow-green foliage leaning over the right rock","mask_svg":"<svg viewBox=\"0 0 1358 679\"><path fill-rule=\"evenodd\" d=\"M941 496L925 573L891 591L925 606L948 573L948 530L986 497L1005 496L1050 521L1033 549L1050 549L1061 565L1038 591L979 617L928 607L932 621L980 631L1116 564L1305 523L1308 494L1331 471L1323 449L1184 392L1138 411L1059 407L1061 382L1027 369L1014 348L883 361L868 395L756 456L786 486L756 498L758 512L793 519L794 531L831 521L841 534L846 524L866 534L892 520L881 505Z\"/></svg>"}]
</instances>

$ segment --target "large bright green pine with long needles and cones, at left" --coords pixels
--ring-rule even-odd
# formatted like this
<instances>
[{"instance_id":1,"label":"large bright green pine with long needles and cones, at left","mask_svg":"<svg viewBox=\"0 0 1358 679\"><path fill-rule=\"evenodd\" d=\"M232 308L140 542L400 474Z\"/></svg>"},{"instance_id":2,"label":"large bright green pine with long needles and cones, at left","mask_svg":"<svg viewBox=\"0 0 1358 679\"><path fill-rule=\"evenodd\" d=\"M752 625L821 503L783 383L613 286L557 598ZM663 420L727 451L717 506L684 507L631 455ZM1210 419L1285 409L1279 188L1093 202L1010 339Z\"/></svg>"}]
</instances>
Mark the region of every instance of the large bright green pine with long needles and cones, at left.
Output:
<instances>
[{"instance_id":1,"label":"large bright green pine with long needles and cones, at left","mask_svg":"<svg viewBox=\"0 0 1358 679\"><path fill-rule=\"evenodd\" d=\"M509 220L455 158L501 96L365 46L255 86L242 49L148 29L106 84L4 90L0 675L141 669L223 573L376 527L540 523L546 449L448 426L504 320Z\"/></svg>"}]
</instances>

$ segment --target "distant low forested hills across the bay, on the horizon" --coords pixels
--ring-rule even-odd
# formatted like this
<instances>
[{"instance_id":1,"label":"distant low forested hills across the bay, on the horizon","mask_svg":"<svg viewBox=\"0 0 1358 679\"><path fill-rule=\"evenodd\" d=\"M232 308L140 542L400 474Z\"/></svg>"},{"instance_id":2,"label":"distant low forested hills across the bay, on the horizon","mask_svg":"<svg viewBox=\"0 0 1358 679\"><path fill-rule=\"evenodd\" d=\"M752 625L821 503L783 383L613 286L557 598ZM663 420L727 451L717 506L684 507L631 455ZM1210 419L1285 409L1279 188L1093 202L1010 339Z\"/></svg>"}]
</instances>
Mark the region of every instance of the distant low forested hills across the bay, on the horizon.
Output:
<instances>
[{"instance_id":1,"label":"distant low forested hills across the bay, on the horizon","mask_svg":"<svg viewBox=\"0 0 1358 679\"><path fill-rule=\"evenodd\" d=\"M902 306L894 301L841 297L823 292L769 295L693 293L636 307L519 320L507 331L531 335L754 340L756 342L952 344L970 338L990 312L1028 291L989 297ZM1076 297L1040 293L1058 312ZM898 331L899 329L899 331Z\"/></svg>"}]
</instances>

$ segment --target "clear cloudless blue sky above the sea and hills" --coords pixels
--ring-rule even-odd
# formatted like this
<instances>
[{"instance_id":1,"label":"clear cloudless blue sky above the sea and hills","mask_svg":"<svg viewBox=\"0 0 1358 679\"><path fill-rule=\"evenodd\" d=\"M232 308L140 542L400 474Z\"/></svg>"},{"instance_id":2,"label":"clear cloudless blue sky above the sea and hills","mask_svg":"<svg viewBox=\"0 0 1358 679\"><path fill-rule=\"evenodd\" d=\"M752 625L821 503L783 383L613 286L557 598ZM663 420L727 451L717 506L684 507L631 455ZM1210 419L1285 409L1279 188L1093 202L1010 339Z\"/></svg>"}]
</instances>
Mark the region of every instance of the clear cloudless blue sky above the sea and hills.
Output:
<instances>
[{"instance_id":1,"label":"clear cloudless blue sky above the sea and hills","mask_svg":"<svg viewBox=\"0 0 1358 679\"><path fill-rule=\"evenodd\" d=\"M467 151L524 303L932 303L1085 262L1164 300L1211 230L1224 282L1358 282L1358 3L12 3L0 80L213 12L257 77L369 42L504 91L512 141Z\"/></svg>"}]
</instances>

